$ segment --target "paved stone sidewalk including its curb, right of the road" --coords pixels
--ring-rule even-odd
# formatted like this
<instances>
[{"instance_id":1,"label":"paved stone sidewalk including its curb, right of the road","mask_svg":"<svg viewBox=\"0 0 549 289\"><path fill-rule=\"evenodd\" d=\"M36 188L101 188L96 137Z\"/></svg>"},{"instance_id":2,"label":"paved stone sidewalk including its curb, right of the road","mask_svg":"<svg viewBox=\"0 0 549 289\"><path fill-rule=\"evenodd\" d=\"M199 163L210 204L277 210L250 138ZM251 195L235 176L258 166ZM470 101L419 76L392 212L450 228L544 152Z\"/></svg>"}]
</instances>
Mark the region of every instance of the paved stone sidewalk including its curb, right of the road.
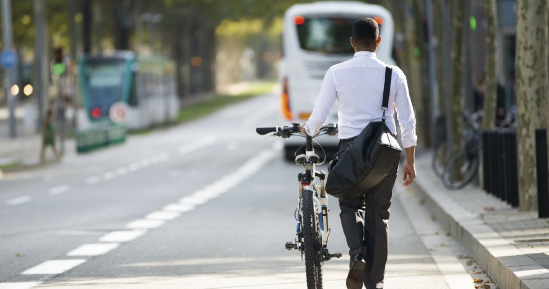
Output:
<instances>
[{"instance_id":1,"label":"paved stone sidewalk including its curb, right of the road","mask_svg":"<svg viewBox=\"0 0 549 289\"><path fill-rule=\"evenodd\" d=\"M500 288L549 289L549 219L519 212L474 185L449 191L430 160L429 151L418 154L414 185L449 234Z\"/></svg>"}]
</instances>

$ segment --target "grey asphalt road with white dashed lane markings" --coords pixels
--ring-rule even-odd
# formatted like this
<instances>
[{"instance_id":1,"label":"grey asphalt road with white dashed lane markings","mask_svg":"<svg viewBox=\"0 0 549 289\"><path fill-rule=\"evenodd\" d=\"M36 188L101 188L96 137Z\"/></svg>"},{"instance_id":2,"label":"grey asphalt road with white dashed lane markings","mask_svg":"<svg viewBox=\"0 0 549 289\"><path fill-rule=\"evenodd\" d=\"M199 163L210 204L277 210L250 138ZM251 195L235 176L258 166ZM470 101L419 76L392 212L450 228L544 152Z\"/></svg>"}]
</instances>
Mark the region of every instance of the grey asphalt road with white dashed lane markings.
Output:
<instances>
[{"instance_id":1,"label":"grey asphalt road with white dashed lane markings","mask_svg":"<svg viewBox=\"0 0 549 289\"><path fill-rule=\"evenodd\" d=\"M264 95L4 175L0 288L306 287L300 254L284 250L300 168L282 160L281 139L254 130L280 124L277 107ZM385 288L474 288L475 264L456 258L466 253L413 189L396 187ZM324 287L343 288L349 259L329 206L330 252L344 258L324 264Z\"/></svg>"}]
</instances>

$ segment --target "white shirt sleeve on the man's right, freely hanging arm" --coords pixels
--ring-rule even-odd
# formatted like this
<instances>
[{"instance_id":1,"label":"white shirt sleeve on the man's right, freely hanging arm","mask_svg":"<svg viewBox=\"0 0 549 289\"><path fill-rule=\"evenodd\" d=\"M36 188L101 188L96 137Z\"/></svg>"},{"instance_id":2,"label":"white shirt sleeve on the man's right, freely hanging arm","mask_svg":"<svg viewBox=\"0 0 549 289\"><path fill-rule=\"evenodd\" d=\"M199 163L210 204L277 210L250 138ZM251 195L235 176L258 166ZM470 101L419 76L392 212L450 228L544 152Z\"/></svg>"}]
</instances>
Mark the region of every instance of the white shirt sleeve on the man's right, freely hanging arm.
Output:
<instances>
[{"instance_id":1,"label":"white shirt sleeve on the man's right, freely hanging arm","mask_svg":"<svg viewBox=\"0 0 549 289\"><path fill-rule=\"evenodd\" d=\"M397 70L398 87L395 95L396 117L399 120L402 146L410 148L417 144L416 114L414 114L406 76Z\"/></svg>"}]
</instances>

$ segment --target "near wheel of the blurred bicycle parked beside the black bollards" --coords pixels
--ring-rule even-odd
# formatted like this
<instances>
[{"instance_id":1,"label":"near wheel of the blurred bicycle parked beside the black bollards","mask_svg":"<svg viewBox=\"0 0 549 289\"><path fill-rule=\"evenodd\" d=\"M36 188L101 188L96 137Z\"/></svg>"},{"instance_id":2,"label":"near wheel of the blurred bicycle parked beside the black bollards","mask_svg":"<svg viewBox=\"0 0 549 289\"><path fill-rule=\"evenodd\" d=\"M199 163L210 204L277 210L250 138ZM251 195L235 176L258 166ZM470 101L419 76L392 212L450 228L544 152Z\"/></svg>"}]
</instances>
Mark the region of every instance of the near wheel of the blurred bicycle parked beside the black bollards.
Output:
<instances>
[{"instance_id":1,"label":"near wheel of the blurred bicycle parked beside the black bollards","mask_svg":"<svg viewBox=\"0 0 549 289\"><path fill-rule=\"evenodd\" d=\"M442 183L449 190L458 190L469 184L479 168L479 157L461 151L448 159L442 174Z\"/></svg>"}]
</instances>

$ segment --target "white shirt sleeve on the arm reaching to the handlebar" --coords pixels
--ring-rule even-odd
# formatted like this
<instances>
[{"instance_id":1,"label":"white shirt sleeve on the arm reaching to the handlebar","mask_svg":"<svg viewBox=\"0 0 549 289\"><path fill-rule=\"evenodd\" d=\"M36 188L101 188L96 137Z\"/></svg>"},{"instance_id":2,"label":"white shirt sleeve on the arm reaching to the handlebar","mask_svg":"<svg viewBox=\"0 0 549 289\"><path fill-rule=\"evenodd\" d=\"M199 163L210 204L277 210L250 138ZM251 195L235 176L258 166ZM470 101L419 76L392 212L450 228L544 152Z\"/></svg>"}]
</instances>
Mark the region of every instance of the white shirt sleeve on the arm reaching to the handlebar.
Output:
<instances>
[{"instance_id":1,"label":"white shirt sleeve on the arm reaching to the handlebar","mask_svg":"<svg viewBox=\"0 0 549 289\"><path fill-rule=\"evenodd\" d=\"M332 67L330 67L326 72L326 75L324 75L322 87L316 98L312 114L307 123L305 123L305 131L307 134L315 135L318 132L318 129L328 120L330 110L335 103L336 95L337 90L335 89L334 71Z\"/></svg>"}]
</instances>

